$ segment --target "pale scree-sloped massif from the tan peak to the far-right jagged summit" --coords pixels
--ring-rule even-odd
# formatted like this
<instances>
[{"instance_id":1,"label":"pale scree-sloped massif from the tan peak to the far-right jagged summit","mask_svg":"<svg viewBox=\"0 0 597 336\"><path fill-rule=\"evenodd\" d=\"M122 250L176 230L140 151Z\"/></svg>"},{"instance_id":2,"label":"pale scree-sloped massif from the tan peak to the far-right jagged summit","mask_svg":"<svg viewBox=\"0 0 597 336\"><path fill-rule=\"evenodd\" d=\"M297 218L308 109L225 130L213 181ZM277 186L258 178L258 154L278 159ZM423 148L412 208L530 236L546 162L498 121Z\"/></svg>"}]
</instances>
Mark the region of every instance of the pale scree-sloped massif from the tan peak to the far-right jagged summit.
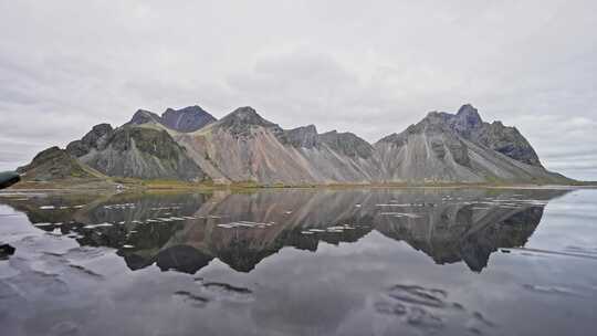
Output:
<instances>
[{"instance_id":1,"label":"pale scree-sloped massif from the tan peak to the far-right jagged summit","mask_svg":"<svg viewBox=\"0 0 597 336\"><path fill-rule=\"evenodd\" d=\"M241 107L202 129L175 136L221 182L567 182L549 172L513 127L484 123L474 107L430 113L370 145L352 133L314 125L282 129Z\"/></svg>"}]
</instances>

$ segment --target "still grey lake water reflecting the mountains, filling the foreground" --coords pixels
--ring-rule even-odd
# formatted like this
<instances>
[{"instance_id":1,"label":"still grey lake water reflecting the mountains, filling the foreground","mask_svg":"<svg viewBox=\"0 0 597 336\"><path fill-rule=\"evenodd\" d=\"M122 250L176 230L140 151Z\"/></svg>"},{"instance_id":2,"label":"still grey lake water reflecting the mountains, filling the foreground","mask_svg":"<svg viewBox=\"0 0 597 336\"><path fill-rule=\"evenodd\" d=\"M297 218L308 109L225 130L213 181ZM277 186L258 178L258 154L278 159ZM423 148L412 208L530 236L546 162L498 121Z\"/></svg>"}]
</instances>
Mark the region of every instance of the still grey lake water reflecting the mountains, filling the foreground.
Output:
<instances>
[{"instance_id":1,"label":"still grey lake water reflecting the mountains, filling the foreground","mask_svg":"<svg viewBox=\"0 0 597 336\"><path fill-rule=\"evenodd\" d=\"M2 335L593 335L597 190L0 195Z\"/></svg>"}]
</instances>

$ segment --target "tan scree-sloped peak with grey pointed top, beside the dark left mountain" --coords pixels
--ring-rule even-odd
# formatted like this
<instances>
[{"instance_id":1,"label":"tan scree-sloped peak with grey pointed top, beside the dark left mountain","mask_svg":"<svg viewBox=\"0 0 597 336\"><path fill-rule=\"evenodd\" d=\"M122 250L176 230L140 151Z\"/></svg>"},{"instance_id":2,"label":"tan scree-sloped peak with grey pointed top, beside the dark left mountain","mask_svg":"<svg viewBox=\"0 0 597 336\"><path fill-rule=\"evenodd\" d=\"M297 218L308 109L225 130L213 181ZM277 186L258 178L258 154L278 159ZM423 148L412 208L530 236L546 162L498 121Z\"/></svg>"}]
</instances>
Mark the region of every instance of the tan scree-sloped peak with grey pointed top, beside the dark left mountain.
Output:
<instances>
[{"instance_id":1,"label":"tan scree-sloped peak with grey pointed top, beside the dark left mountain","mask_svg":"<svg viewBox=\"0 0 597 336\"><path fill-rule=\"evenodd\" d=\"M175 138L214 181L313 181L304 167L307 162L284 146L284 130L251 107L237 108L216 123Z\"/></svg>"}]
</instances>

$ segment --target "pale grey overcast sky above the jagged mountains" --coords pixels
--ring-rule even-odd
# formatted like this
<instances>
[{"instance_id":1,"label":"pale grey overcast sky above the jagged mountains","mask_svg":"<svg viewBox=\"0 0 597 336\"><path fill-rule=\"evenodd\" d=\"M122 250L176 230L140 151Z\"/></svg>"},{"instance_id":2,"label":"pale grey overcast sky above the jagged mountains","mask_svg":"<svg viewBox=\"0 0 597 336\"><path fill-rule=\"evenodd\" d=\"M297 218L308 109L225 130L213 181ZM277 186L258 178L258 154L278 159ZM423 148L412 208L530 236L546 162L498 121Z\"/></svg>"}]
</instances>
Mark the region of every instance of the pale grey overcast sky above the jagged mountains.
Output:
<instances>
[{"instance_id":1,"label":"pale grey overcast sky above the jagged mountains","mask_svg":"<svg viewBox=\"0 0 597 336\"><path fill-rule=\"evenodd\" d=\"M0 0L0 170L138 108L375 141L464 103L597 179L597 1Z\"/></svg>"}]
</instances>

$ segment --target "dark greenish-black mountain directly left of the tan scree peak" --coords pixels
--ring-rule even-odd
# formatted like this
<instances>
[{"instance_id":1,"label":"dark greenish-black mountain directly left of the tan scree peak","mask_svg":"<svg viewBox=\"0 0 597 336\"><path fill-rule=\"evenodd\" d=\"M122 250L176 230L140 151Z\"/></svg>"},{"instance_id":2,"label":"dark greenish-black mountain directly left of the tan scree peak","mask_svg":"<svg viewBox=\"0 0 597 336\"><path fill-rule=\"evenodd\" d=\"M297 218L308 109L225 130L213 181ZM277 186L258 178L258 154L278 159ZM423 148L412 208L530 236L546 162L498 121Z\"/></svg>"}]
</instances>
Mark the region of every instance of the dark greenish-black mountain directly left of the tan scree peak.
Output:
<instances>
[{"instance_id":1,"label":"dark greenish-black mountain directly left of the tan scree peak","mask_svg":"<svg viewBox=\"0 0 597 336\"><path fill-rule=\"evenodd\" d=\"M135 116L136 123L146 116L150 119L144 112ZM94 126L81 140L69 144L66 153L107 176L189 181L205 178L201 168L166 130L135 125L116 129L107 124Z\"/></svg>"}]
</instances>

